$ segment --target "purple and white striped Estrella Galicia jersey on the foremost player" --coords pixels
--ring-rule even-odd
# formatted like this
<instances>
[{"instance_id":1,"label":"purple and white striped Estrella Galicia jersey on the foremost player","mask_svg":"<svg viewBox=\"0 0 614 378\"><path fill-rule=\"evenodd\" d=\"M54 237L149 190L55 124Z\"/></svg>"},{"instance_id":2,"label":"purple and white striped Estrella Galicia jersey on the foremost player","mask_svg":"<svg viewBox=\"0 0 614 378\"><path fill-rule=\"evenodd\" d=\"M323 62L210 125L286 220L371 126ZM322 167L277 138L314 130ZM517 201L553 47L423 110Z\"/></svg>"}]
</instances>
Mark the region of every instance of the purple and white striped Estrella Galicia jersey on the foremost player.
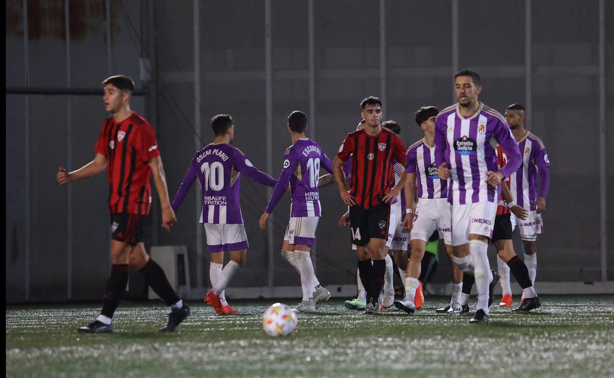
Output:
<instances>
[{"instance_id":1,"label":"purple and white striped Estrella Galicia jersey on the foremost player","mask_svg":"<svg viewBox=\"0 0 614 378\"><path fill-rule=\"evenodd\" d=\"M448 164L451 177L448 201L454 204L498 202L501 188L486 183L487 172L497 172L496 143L508 151L501 168L505 178L520 166L521 157L510 126L496 110L480 102L474 115L465 118L459 104L445 108L435 119L435 165Z\"/></svg>"}]
</instances>

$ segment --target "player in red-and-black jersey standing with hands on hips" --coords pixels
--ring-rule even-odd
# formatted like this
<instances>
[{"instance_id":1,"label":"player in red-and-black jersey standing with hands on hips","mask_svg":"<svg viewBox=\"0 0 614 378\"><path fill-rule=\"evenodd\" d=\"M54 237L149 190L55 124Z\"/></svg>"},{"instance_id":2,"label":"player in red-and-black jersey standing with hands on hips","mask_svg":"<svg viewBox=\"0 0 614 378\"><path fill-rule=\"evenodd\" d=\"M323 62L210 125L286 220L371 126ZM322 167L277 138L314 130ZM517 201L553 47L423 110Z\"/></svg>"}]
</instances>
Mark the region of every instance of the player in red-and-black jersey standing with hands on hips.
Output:
<instances>
[{"instance_id":1,"label":"player in red-and-black jersey standing with hands on hips","mask_svg":"<svg viewBox=\"0 0 614 378\"><path fill-rule=\"evenodd\" d=\"M397 135L381 127L382 104L377 97L362 100L365 128L348 134L341 144L333 172L341 200L349 208L352 240L357 246L360 280L367 292L365 314L379 312L378 297L386 273L386 240L390 203L405 184L394 185L394 160L403 162L406 149ZM342 165L352 154L351 189L346 191Z\"/></svg>"}]
</instances>

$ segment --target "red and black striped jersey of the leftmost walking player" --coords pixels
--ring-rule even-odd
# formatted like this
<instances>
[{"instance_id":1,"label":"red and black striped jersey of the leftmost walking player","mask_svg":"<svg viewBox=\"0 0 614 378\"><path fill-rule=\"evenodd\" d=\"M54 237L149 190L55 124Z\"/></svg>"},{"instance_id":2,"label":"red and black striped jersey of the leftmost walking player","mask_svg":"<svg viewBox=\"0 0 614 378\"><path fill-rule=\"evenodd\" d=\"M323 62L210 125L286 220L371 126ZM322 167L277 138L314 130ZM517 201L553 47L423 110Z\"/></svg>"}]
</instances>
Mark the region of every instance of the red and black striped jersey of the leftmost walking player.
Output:
<instances>
[{"instance_id":1,"label":"red and black striped jersey of the leftmost walking player","mask_svg":"<svg viewBox=\"0 0 614 378\"><path fill-rule=\"evenodd\" d=\"M149 214L152 191L147 163L160 156L149 122L136 113L119 123L107 118L94 149L107 158L109 212Z\"/></svg>"}]
</instances>

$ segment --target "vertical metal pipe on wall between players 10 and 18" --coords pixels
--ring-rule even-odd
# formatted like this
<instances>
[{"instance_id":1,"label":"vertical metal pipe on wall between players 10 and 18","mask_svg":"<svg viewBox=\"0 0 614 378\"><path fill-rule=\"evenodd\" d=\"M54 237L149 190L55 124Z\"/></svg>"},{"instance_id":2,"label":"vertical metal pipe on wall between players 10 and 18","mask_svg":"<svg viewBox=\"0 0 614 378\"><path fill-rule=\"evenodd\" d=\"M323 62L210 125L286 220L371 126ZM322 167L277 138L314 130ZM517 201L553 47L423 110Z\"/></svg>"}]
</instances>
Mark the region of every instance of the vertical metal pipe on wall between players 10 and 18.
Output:
<instances>
[{"instance_id":1,"label":"vertical metal pipe on wall between players 10 and 18","mask_svg":"<svg viewBox=\"0 0 614 378\"><path fill-rule=\"evenodd\" d=\"M265 70L266 70L266 171L273 172L273 70L271 67L271 0L265 0ZM271 198L273 189L267 187L266 195ZM271 214L273 219L274 214ZM273 261L273 227L266 228L268 251L268 286L273 287L275 264Z\"/></svg>"}]
</instances>

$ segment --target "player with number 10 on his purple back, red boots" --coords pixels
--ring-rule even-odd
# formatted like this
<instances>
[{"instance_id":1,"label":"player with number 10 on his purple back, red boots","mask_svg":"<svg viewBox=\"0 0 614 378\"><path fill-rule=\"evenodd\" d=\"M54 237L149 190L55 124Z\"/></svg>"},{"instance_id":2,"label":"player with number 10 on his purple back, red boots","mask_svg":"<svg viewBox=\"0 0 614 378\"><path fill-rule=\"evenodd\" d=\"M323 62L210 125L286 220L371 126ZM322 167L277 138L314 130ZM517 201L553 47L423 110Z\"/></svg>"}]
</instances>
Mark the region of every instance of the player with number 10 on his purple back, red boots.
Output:
<instances>
[{"instance_id":1,"label":"player with number 10 on his purple back, red boots","mask_svg":"<svg viewBox=\"0 0 614 378\"><path fill-rule=\"evenodd\" d=\"M239 184L242 173L257 183L273 187L277 183L271 176L260 172L238 149L231 146L235 137L233 118L219 114L211 118L215 138L192 158L173 200L177 211L190 187L198 178L203 192L203 211L200 222L207 235L207 249L211 253L209 279L213 289L204 300L211 304L217 314L235 315L225 299L224 290L239 267L246 262L247 235L241 214ZM229 252L230 261L223 266L224 252Z\"/></svg>"}]
</instances>

